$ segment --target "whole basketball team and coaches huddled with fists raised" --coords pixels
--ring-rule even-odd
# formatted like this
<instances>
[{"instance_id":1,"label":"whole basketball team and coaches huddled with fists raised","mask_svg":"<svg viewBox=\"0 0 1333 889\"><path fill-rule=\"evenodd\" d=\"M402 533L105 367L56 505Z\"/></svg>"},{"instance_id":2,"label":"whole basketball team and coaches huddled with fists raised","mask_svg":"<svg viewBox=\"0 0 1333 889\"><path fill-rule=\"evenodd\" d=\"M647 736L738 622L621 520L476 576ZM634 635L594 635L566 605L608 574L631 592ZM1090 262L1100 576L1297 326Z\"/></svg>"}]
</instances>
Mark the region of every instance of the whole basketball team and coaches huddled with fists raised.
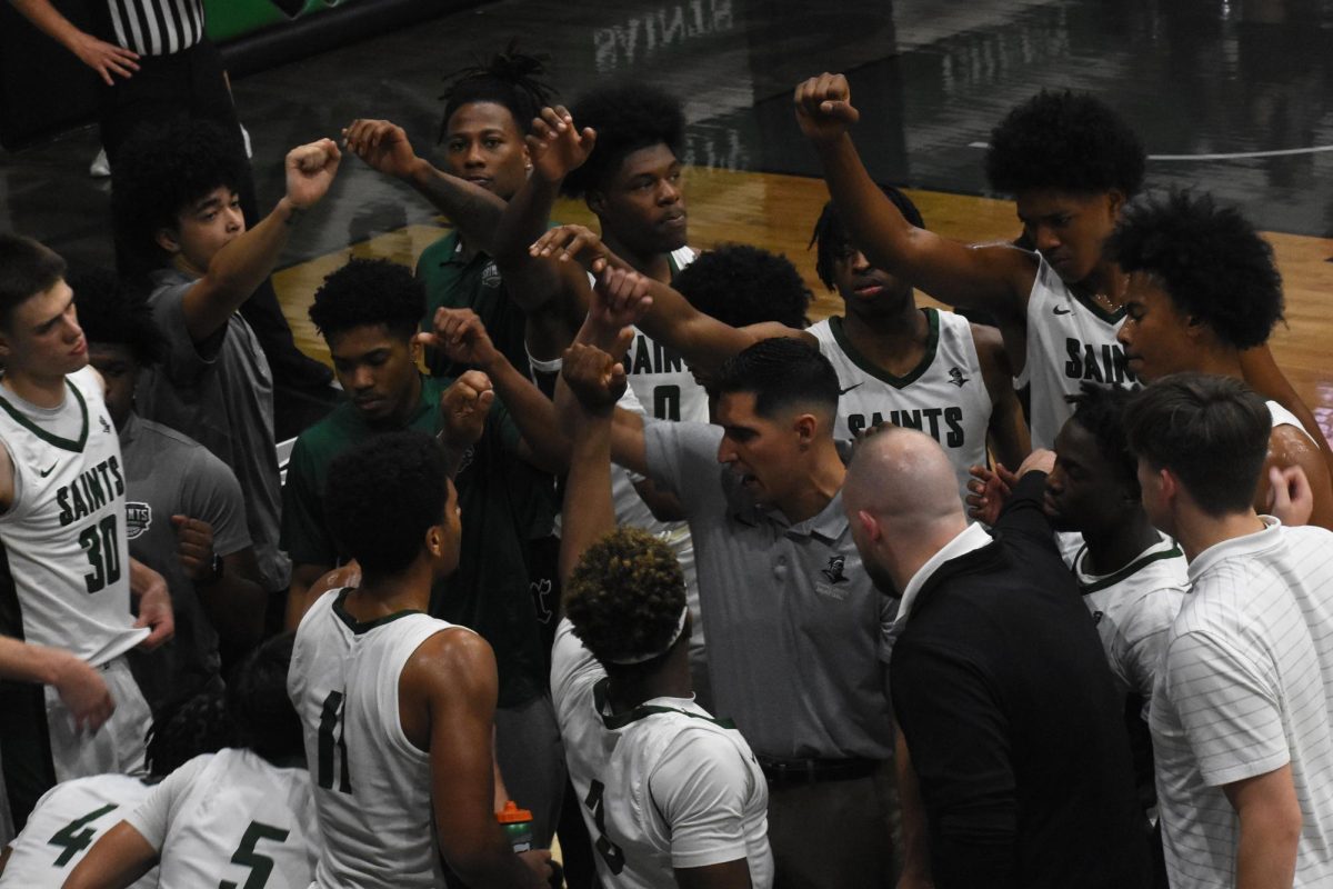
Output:
<instances>
[{"instance_id":1,"label":"whole basketball team and coaches huddled with fists raised","mask_svg":"<svg viewBox=\"0 0 1333 889\"><path fill-rule=\"evenodd\" d=\"M674 97L544 77L459 72L441 167L293 148L263 219L140 129L115 273L0 235L0 888L1333 885L1333 453L1253 225L1041 92L1018 237L941 237L821 75L812 325L688 245ZM284 476L240 309L344 153L452 231L313 293Z\"/></svg>"}]
</instances>

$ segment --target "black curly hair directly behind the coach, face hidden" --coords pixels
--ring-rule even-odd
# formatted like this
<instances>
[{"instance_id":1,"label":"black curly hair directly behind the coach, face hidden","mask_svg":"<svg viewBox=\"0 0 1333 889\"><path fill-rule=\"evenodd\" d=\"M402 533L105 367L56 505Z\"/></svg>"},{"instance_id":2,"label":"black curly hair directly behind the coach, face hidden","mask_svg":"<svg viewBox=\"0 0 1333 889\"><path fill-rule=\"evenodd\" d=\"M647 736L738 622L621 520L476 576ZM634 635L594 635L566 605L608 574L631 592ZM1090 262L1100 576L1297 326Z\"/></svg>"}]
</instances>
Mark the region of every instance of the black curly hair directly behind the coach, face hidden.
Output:
<instances>
[{"instance_id":1,"label":"black curly hair directly behind the coach, face hidden","mask_svg":"<svg viewBox=\"0 0 1333 889\"><path fill-rule=\"evenodd\" d=\"M809 324L810 292L800 272L780 253L745 244L724 244L702 253L672 281L690 305L732 327L777 321Z\"/></svg>"}]
</instances>

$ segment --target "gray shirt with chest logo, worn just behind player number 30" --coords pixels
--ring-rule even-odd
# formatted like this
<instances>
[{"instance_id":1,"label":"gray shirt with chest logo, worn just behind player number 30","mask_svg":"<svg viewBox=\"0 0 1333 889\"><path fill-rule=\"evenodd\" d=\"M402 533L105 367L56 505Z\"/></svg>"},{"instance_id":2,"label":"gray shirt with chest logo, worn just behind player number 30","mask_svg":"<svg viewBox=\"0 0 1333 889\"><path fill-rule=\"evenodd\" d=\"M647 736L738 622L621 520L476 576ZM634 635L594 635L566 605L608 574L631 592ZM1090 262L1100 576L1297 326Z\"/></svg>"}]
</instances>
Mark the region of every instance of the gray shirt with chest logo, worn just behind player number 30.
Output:
<instances>
[{"instance_id":1,"label":"gray shirt with chest logo, worn just behind player number 30","mask_svg":"<svg viewBox=\"0 0 1333 889\"><path fill-rule=\"evenodd\" d=\"M131 652L144 698L156 710L195 694L220 677L217 632L199 602L195 584L176 554L172 516L213 526L213 552L231 556L251 545L245 502L227 465L175 429L131 413L120 429L125 461L129 554L167 578L176 636L152 652Z\"/></svg>"}]
</instances>

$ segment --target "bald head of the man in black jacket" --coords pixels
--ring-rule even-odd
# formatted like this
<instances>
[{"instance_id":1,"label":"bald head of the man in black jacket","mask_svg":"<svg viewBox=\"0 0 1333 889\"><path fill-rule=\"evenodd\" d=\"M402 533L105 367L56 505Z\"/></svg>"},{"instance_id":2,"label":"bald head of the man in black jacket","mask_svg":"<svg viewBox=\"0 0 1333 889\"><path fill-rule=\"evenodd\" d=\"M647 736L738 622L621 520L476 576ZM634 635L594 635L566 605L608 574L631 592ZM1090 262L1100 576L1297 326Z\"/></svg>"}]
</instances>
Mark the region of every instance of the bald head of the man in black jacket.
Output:
<instances>
[{"instance_id":1,"label":"bald head of the man in black jacket","mask_svg":"<svg viewBox=\"0 0 1333 889\"><path fill-rule=\"evenodd\" d=\"M862 562L890 594L968 526L944 449L930 436L898 427L857 443L842 506Z\"/></svg>"}]
</instances>

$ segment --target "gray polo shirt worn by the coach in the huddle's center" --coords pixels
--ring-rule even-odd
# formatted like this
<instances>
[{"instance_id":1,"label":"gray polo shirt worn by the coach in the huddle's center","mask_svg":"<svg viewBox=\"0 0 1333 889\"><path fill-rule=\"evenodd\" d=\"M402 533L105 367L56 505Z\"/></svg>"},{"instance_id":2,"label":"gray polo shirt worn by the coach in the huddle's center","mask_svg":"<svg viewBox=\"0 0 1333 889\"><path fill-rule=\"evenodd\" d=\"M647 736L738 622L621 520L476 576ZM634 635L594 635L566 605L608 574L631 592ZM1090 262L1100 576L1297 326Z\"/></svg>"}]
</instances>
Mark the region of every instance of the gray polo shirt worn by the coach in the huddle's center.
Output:
<instances>
[{"instance_id":1,"label":"gray polo shirt worn by the coach in the huddle's center","mask_svg":"<svg viewBox=\"0 0 1333 889\"><path fill-rule=\"evenodd\" d=\"M886 760L894 602L861 566L841 492L793 525L717 462L720 427L649 421L644 435L649 477L694 537L717 714L760 756Z\"/></svg>"}]
</instances>

